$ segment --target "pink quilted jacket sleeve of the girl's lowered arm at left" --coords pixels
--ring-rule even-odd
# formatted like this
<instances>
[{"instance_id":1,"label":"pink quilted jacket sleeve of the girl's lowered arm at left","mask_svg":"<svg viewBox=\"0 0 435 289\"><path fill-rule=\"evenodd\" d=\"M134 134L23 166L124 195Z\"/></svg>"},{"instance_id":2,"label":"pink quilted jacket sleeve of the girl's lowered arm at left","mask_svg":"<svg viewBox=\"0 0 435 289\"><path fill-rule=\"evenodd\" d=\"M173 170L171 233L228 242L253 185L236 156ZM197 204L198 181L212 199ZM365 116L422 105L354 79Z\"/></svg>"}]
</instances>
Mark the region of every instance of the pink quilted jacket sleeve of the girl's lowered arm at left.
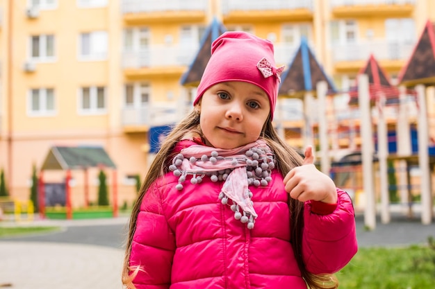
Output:
<instances>
[{"instance_id":1,"label":"pink quilted jacket sleeve of the girl's lowered arm at left","mask_svg":"<svg viewBox=\"0 0 435 289\"><path fill-rule=\"evenodd\" d=\"M133 280L138 289L169 288L175 238L163 214L156 185L147 191L138 214L130 266L139 265Z\"/></svg>"}]
</instances>

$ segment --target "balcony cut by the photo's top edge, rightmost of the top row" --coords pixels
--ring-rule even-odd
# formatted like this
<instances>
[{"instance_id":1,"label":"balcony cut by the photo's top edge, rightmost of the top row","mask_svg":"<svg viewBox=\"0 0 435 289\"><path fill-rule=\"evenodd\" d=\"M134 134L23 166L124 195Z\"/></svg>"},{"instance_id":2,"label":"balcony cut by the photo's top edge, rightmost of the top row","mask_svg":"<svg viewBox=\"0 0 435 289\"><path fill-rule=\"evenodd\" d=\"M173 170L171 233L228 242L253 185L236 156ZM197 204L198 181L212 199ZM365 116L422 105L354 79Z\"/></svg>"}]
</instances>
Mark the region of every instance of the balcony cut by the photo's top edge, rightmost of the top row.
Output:
<instances>
[{"instance_id":1,"label":"balcony cut by the photo's top edge, rightmost of the top row","mask_svg":"<svg viewBox=\"0 0 435 289\"><path fill-rule=\"evenodd\" d=\"M331 0L335 17L411 16L416 0Z\"/></svg>"}]
</instances>

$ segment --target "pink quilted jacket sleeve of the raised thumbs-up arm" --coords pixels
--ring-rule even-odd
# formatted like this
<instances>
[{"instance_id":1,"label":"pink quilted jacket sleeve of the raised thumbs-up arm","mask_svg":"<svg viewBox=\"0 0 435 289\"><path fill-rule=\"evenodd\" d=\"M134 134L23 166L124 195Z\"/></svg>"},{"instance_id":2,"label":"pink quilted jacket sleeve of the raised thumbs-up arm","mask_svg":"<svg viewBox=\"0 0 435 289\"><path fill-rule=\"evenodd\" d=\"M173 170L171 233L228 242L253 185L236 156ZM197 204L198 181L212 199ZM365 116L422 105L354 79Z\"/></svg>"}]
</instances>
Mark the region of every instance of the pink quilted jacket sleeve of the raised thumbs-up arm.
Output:
<instances>
[{"instance_id":1,"label":"pink quilted jacket sleeve of the raised thumbs-up arm","mask_svg":"<svg viewBox=\"0 0 435 289\"><path fill-rule=\"evenodd\" d=\"M306 270L331 274L343 268L356 254L356 229L352 200L337 189L336 209L327 215L311 211L305 203L302 254Z\"/></svg>"}]
</instances>

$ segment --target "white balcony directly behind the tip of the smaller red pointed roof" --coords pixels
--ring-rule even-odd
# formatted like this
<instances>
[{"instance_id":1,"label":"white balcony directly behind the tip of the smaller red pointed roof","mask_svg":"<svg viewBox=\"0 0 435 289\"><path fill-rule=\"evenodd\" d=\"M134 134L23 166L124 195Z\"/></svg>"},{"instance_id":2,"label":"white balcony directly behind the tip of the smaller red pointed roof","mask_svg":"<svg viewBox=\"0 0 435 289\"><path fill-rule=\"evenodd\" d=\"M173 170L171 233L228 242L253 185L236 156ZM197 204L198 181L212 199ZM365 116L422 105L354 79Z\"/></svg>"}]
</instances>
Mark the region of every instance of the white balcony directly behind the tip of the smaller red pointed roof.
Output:
<instances>
[{"instance_id":1,"label":"white balcony directly behind the tip of the smaller red pointed roof","mask_svg":"<svg viewBox=\"0 0 435 289\"><path fill-rule=\"evenodd\" d=\"M412 53L415 43L387 42L386 40L360 41L352 44L334 44L332 60L337 72L358 71L373 54L381 67L398 71Z\"/></svg>"}]
</instances>

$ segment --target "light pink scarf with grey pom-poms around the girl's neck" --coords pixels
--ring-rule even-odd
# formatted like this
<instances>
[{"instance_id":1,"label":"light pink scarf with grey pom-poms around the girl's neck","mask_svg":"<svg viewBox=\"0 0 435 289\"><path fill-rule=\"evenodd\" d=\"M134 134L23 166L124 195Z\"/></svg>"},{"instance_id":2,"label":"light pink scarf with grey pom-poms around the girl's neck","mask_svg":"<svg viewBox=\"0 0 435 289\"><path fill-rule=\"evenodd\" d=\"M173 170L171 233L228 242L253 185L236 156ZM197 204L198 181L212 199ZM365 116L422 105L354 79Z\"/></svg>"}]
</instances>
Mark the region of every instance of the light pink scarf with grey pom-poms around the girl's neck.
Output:
<instances>
[{"instance_id":1,"label":"light pink scarf with grey pom-poms around the girl's neck","mask_svg":"<svg viewBox=\"0 0 435 289\"><path fill-rule=\"evenodd\" d=\"M212 182L224 181L219 199L222 204L231 206L236 220L247 223L247 227L252 229L258 215L249 185L268 186L274 166L272 150L265 141L258 139L231 150L192 145L181 149L169 168L179 177L176 188L180 191L187 175L192 176L192 184L201 183L206 176Z\"/></svg>"}]
</instances>

